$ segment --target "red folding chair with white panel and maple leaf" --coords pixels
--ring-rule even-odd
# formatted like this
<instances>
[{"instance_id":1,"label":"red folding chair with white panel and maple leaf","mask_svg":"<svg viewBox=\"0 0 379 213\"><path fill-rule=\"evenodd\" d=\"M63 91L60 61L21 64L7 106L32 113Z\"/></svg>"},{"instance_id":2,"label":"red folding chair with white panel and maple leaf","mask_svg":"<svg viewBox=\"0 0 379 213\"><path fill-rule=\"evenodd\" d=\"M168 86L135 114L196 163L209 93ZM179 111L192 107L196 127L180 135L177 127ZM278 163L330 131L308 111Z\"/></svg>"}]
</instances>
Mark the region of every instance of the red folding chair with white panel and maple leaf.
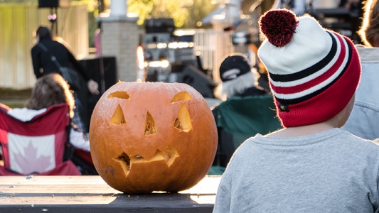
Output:
<instances>
[{"instance_id":1,"label":"red folding chair with white panel and maple leaf","mask_svg":"<svg viewBox=\"0 0 379 213\"><path fill-rule=\"evenodd\" d=\"M80 175L70 160L68 104L56 104L21 121L0 104L0 145L4 166L0 175Z\"/></svg>"}]
</instances>

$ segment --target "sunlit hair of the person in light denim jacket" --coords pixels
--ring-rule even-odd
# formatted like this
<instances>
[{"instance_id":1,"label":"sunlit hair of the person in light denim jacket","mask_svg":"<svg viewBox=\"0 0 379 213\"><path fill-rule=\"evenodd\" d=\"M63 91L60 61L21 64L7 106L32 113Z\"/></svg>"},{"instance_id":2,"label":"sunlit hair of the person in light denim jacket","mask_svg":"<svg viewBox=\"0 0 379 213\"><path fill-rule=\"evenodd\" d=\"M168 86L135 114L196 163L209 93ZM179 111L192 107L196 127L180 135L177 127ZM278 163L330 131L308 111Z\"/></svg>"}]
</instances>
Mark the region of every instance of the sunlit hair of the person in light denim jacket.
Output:
<instances>
[{"instance_id":1,"label":"sunlit hair of the person in light denim jacket","mask_svg":"<svg viewBox=\"0 0 379 213\"><path fill-rule=\"evenodd\" d=\"M363 23L358 34L365 45L379 47L379 3L378 0L365 1Z\"/></svg>"}]
</instances>

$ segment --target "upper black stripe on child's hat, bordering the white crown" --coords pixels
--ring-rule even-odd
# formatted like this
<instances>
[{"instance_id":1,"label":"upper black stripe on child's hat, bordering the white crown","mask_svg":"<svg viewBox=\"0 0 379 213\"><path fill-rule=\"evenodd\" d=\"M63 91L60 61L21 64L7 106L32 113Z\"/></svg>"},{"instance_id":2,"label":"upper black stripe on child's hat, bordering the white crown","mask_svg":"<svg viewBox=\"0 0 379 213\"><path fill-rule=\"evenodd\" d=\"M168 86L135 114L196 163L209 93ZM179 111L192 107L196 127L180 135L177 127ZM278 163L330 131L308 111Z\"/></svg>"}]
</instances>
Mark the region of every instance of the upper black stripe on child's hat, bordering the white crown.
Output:
<instances>
[{"instance_id":1,"label":"upper black stripe on child's hat, bordering the white crown","mask_svg":"<svg viewBox=\"0 0 379 213\"><path fill-rule=\"evenodd\" d=\"M287 75L273 74L269 72L269 78L271 78L271 80L274 82L292 82L294 80L299 80L303 77L312 75L328 65L337 53L337 40L333 37L333 35L331 35L330 32L326 32L331 36L332 44L331 50L329 51L328 55L325 56L325 58L317 62L315 65L308 67L305 70L301 70L300 72L295 72Z\"/></svg>"}]
</instances>

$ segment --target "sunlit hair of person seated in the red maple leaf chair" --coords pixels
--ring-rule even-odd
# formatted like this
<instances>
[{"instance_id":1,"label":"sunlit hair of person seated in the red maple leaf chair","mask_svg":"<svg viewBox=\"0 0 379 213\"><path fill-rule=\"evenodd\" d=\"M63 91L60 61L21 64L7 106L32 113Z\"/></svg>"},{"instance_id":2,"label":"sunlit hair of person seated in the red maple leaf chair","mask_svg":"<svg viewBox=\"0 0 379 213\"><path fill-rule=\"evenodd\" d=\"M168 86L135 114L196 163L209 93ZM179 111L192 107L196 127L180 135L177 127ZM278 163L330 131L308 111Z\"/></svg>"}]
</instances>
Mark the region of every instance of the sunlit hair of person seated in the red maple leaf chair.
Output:
<instances>
[{"instance_id":1,"label":"sunlit hair of person seated in the red maple leaf chair","mask_svg":"<svg viewBox=\"0 0 379 213\"><path fill-rule=\"evenodd\" d=\"M31 92L31 98L26 103L28 109L43 109L54 104L66 103L70 107L70 117L73 118L75 100L67 82L57 73L38 78Z\"/></svg>"}]
</instances>

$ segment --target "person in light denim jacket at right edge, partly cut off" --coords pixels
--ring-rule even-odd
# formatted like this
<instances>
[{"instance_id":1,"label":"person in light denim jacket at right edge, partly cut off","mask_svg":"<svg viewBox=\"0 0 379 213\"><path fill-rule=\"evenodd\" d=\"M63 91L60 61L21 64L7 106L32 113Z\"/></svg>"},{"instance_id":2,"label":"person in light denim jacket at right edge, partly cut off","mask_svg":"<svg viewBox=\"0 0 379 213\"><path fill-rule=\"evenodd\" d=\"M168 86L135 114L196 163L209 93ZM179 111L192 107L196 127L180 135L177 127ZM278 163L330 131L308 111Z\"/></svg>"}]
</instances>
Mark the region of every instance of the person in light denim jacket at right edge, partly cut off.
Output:
<instances>
[{"instance_id":1,"label":"person in light denim jacket at right edge, partly cut off","mask_svg":"<svg viewBox=\"0 0 379 213\"><path fill-rule=\"evenodd\" d=\"M379 2L365 5L363 25L358 31L365 45L356 45L362 62L361 83L351 116L343 129L361 138L379 138Z\"/></svg>"}]
</instances>

